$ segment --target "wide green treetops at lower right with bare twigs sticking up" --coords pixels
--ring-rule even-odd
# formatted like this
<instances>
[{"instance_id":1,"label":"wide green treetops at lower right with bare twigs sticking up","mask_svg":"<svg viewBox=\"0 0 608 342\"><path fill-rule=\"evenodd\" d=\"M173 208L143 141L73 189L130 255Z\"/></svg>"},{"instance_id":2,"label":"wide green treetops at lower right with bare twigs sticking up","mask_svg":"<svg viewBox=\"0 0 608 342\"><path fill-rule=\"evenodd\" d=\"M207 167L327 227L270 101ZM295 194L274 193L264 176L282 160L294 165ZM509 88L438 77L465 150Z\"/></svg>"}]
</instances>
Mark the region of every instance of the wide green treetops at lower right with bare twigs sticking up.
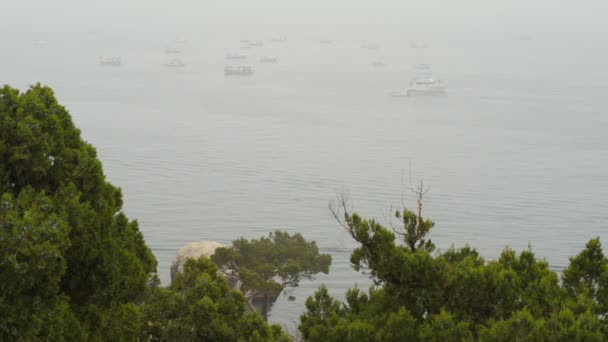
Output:
<instances>
[{"instance_id":1,"label":"wide green treetops at lower right with bare twigs sticking up","mask_svg":"<svg viewBox=\"0 0 608 342\"><path fill-rule=\"evenodd\" d=\"M340 223L360 244L353 267L375 285L367 294L350 290L345 303L320 288L301 316L306 341L608 339L608 260L599 239L571 258L560 283L531 249L506 248L493 261L469 246L433 253L426 236L434 225L415 213L397 213L401 231L343 214Z\"/></svg>"}]
</instances>

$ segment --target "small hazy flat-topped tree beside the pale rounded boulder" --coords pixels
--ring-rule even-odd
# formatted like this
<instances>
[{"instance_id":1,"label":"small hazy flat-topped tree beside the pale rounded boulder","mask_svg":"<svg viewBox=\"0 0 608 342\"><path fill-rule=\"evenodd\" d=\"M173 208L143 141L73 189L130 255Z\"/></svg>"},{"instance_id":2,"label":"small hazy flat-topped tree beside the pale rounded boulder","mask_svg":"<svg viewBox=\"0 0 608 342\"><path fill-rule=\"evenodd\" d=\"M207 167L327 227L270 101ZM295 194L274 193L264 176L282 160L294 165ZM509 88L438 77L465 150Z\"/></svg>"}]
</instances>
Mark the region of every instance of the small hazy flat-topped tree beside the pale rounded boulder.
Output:
<instances>
[{"instance_id":1,"label":"small hazy flat-topped tree beside the pale rounded boulder","mask_svg":"<svg viewBox=\"0 0 608 342\"><path fill-rule=\"evenodd\" d=\"M296 287L319 272L329 273L331 264L331 256L320 254L314 241L281 231L260 239L235 240L231 248L218 248L211 258L223 274L238 275L247 297L262 299L264 317L286 287Z\"/></svg>"}]
</instances>

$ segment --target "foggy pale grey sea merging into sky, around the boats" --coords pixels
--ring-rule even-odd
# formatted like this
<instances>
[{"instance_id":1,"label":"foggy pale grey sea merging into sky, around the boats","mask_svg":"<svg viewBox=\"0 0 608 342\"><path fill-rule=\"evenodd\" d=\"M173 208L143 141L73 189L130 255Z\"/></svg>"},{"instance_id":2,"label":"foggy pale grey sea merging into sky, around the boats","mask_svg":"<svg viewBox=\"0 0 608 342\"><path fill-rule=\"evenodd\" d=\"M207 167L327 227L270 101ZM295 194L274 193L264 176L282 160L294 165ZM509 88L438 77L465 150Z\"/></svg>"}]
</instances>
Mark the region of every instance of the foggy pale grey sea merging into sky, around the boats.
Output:
<instances>
[{"instance_id":1,"label":"foggy pale grey sea merging into sky, around the boats","mask_svg":"<svg viewBox=\"0 0 608 342\"><path fill-rule=\"evenodd\" d=\"M338 297L369 284L328 203L346 191L388 224L391 207L415 205L409 165L431 184L424 212L441 249L468 243L493 258L531 244L560 270L607 237L605 1L1 6L0 83L55 90L123 189L164 284L188 242L301 232L334 260L275 305L271 320L292 324L320 284ZM171 58L185 66L165 67ZM447 94L388 96L420 63ZM255 74L224 76L239 64Z\"/></svg>"}]
</instances>

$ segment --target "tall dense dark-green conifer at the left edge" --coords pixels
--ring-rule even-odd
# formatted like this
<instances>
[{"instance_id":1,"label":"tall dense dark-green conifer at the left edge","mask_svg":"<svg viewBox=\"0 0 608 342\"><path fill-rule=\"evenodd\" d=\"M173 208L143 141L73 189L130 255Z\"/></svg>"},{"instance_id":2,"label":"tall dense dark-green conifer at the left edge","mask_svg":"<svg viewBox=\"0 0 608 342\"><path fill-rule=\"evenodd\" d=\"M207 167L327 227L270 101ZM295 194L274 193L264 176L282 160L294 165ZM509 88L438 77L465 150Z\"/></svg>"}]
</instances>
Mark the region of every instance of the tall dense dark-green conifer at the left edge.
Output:
<instances>
[{"instance_id":1,"label":"tall dense dark-green conifer at the left edge","mask_svg":"<svg viewBox=\"0 0 608 342\"><path fill-rule=\"evenodd\" d=\"M134 317L156 260L49 88L0 89L0 201L0 339L97 339Z\"/></svg>"}]
</instances>

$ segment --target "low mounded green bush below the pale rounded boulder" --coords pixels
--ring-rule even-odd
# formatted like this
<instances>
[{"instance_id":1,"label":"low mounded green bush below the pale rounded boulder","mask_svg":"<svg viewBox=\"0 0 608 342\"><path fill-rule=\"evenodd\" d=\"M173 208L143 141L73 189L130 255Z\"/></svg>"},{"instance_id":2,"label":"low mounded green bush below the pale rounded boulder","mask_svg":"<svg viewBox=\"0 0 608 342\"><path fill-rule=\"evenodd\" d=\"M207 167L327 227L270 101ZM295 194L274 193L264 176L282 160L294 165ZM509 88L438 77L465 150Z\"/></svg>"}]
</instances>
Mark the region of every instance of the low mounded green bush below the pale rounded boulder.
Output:
<instances>
[{"instance_id":1,"label":"low mounded green bush below the pale rounded boulder","mask_svg":"<svg viewBox=\"0 0 608 342\"><path fill-rule=\"evenodd\" d=\"M141 304L143 341L289 341L281 328L245 311L209 259L188 259L170 288L150 288Z\"/></svg>"}]
</instances>

